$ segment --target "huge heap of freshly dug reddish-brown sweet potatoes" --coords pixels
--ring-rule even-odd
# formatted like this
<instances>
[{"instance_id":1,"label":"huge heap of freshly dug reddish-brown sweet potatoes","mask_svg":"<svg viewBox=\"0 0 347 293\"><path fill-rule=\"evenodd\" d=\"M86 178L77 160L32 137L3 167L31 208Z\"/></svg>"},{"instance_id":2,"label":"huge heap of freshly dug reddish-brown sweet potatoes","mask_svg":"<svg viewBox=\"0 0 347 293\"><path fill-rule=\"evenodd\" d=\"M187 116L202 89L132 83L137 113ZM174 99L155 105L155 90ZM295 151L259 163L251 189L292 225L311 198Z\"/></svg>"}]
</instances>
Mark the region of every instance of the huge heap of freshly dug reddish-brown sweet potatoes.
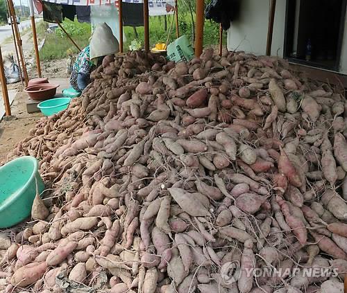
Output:
<instances>
[{"instance_id":1,"label":"huge heap of freshly dug reddish-brown sweet potatoes","mask_svg":"<svg viewBox=\"0 0 347 293\"><path fill-rule=\"evenodd\" d=\"M8 155L40 159L47 190L0 233L1 292L342 292L343 96L210 48L110 55L92 79Z\"/></svg>"}]
</instances>

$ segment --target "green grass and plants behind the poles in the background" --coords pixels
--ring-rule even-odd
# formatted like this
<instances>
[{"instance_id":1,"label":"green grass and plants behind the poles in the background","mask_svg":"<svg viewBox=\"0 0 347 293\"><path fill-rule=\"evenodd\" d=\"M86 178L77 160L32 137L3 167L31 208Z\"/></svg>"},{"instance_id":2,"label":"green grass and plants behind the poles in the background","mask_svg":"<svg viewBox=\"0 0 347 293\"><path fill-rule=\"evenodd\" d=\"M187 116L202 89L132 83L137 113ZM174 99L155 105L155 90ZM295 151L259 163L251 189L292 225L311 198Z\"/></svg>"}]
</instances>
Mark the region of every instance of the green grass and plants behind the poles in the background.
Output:
<instances>
[{"instance_id":1,"label":"green grass and plants behind the poles in the background","mask_svg":"<svg viewBox=\"0 0 347 293\"><path fill-rule=\"evenodd\" d=\"M171 26L171 21L173 15L167 16L167 30L164 26L164 16L161 17L150 17L150 46L153 47L156 43L162 42L166 43L169 28ZM74 41L84 48L89 43L89 38L91 35L90 24L80 24L78 21L65 20L62 24L67 30L67 33L71 35ZM57 28L53 33L47 33L48 24L44 21L37 24L37 36L39 39L45 37L45 42L42 50L40 51L41 60L54 60L67 57L67 50L71 50L73 53L78 53L76 47L71 43L67 36ZM124 34L126 35L126 42L124 42L124 51L128 51L129 46L133 40L137 40L142 46L144 45L144 28L137 27L137 38L135 37L135 30L133 27L124 27ZM194 44L193 39L193 25L192 20L189 15L181 14L179 15L179 30L180 35L187 35L192 44ZM176 23L173 22L172 30L169 35L169 43L176 39ZM226 33L223 35L223 43L226 43ZM205 30L203 37L203 44L205 46L217 45L219 44L219 24L211 21L205 21Z\"/></svg>"}]
</instances>

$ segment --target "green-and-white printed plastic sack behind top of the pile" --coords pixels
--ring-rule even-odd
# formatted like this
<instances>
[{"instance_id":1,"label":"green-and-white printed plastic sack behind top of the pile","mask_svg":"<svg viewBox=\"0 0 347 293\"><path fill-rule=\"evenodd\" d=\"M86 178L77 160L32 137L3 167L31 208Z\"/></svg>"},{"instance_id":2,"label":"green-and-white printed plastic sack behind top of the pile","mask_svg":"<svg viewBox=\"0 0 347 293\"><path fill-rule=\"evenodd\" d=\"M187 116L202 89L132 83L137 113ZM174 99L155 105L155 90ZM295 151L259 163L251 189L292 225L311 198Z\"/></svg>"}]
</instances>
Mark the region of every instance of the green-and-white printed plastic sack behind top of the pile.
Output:
<instances>
[{"instance_id":1,"label":"green-and-white printed plastic sack behind top of the pile","mask_svg":"<svg viewBox=\"0 0 347 293\"><path fill-rule=\"evenodd\" d=\"M194 50L185 35L167 46L167 57L170 61L174 62L189 62L193 59Z\"/></svg>"}]
</instances>

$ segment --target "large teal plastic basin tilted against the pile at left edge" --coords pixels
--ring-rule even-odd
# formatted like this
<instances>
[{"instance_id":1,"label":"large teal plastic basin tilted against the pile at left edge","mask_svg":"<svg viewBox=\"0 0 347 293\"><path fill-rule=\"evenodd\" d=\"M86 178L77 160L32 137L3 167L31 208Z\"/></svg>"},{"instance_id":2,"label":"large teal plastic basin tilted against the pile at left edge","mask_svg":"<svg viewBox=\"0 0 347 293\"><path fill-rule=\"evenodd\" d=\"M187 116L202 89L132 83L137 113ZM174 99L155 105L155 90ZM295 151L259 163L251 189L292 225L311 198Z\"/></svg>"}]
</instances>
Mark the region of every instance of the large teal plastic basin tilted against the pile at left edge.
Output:
<instances>
[{"instance_id":1,"label":"large teal plastic basin tilted against the pile at left edge","mask_svg":"<svg viewBox=\"0 0 347 293\"><path fill-rule=\"evenodd\" d=\"M31 214L31 206L44 183L37 171L37 159L19 157L0 167L0 228L12 227Z\"/></svg>"}]
</instances>

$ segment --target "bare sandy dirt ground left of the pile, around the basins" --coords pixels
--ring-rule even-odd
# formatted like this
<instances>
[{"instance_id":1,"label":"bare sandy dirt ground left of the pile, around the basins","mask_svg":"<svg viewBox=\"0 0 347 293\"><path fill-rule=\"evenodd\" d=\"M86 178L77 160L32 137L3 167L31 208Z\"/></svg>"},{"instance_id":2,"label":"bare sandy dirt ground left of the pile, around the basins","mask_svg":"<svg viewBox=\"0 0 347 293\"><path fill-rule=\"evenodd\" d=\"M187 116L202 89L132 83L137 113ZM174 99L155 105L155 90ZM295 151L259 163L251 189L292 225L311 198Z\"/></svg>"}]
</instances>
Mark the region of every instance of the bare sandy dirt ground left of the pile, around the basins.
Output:
<instances>
[{"instance_id":1,"label":"bare sandy dirt ground left of the pile, around the basins","mask_svg":"<svg viewBox=\"0 0 347 293\"><path fill-rule=\"evenodd\" d=\"M65 67L65 60L54 60L44 62L42 64L42 76L47 78L67 78ZM28 73L30 78L37 77L36 71ZM0 162L6 159L10 150L15 148L15 145L22 141L28 131L35 126L37 120L42 117L42 114L26 112L26 99L28 96L23 90L22 85L19 83L15 85L8 85L8 89L17 88L18 93L11 105L12 117L10 119L2 119L0 122Z\"/></svg>"}]
</instances>

